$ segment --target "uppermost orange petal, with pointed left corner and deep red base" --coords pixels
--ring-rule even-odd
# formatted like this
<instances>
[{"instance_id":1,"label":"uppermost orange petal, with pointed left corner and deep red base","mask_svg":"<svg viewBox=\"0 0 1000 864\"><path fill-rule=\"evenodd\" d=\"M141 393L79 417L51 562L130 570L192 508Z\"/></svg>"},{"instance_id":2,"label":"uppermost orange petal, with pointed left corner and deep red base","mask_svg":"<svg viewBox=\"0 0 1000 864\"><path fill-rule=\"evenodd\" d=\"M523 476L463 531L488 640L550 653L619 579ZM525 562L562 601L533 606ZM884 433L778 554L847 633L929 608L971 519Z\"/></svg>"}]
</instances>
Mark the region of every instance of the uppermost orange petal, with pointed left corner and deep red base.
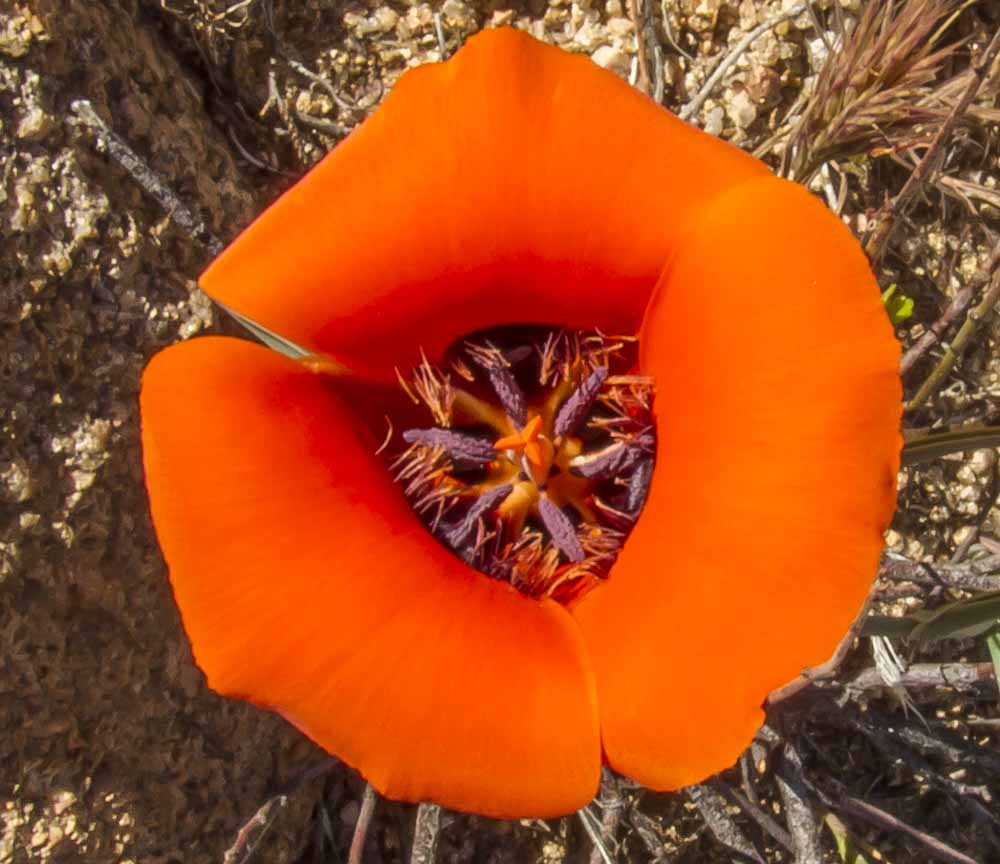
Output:
<instances>
[{"instance_id":1,"label":"uppermost orange petal, with pointed left corner and deep red base","mask_svg":"<svg viewBox=\"0 0 1000 864\"><path fill-rule=\"evenodd\" d=\"M766 168L514 30L404 75L202 287L385 378L504 323L635 332L685 223Z\"/></svg>"}]
</instances>

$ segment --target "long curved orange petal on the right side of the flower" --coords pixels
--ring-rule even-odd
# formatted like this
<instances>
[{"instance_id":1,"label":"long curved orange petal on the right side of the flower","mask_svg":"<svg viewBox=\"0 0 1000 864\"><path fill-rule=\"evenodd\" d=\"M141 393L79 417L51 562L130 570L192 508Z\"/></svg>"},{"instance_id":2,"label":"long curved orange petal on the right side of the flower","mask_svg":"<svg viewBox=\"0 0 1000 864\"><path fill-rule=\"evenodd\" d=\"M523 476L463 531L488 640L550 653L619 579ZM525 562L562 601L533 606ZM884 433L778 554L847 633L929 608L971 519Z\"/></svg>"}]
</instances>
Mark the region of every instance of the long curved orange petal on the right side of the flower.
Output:
<instances>
[{"instance_id":1,"label":"long curved orange petal on the right side of the flower","mask_svg":"<svg viewBox=\"0 0 1000 864\"><path fill-rule=\"evenodd\" d=\"M574 610L610 764L655 788L733 764L768 692L828 659L894 506L899 349L867 261L773 178L702 213L641 334L657 462Z\"/></svg>"}]
</instances>

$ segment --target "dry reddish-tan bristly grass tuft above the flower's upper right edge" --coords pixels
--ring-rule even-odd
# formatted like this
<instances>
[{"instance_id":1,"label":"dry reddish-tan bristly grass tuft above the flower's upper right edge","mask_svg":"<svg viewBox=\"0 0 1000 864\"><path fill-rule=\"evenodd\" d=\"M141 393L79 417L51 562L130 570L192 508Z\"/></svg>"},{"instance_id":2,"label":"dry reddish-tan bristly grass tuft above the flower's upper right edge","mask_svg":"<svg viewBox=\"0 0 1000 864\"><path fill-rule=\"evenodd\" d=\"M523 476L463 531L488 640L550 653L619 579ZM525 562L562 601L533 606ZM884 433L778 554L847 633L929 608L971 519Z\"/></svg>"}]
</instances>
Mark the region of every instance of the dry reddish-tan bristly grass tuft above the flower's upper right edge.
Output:
<instances>
[{"instance_id":1,"label":"dry reddish-tan bristly grass tuft above the flower's upper right edge","mask_svg":"<svg viewBox=\"0 0 1000 864\"><path fill-rule=\"evenodd\" d=\"M940 44L957 8L955 0L869 3L821 70L781 173L805 183L829 159L918 143L921 127L945 113L933 91L960 44Z\"/></svg>"}]
</instances>

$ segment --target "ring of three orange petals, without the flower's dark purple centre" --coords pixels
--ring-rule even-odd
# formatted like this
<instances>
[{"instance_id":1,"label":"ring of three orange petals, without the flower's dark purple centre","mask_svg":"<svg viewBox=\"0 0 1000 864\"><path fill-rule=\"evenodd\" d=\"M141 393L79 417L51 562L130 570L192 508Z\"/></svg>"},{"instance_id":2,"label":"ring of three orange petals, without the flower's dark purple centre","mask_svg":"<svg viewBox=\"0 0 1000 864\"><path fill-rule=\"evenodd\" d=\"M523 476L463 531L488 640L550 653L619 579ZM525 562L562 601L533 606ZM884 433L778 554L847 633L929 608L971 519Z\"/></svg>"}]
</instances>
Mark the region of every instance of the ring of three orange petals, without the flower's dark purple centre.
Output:
<instances>
[{"instance_id":1,"label":"ring of three orange petals, without the flower's dark purple centre","mask_svg":"<svg viewBox=\"0 0 1000 864\"><path fill-rule=\"evenodd\" d=\"M585 58L498 30L407 73L202 286L353 378L218 337L146 370L152 514L195 659L390 797L554 816L602 760L700 781L869 589L900 385L862 252ZM656 387L645 509L569 606L440 544L367 422L421 349L524 322L638 332Z\"/></svg>"}]
</instances>

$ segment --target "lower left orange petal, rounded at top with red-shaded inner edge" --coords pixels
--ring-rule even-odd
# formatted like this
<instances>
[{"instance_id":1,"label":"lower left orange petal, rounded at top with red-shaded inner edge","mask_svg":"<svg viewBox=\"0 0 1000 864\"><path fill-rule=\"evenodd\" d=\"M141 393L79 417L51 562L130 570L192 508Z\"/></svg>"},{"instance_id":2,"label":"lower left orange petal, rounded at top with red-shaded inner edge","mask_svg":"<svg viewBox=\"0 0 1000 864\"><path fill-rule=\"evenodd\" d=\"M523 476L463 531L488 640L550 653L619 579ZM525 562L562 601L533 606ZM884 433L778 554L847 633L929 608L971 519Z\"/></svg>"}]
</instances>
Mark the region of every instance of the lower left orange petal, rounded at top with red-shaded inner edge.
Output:
<instances>
[{"instance_id":1,"label":"lower left orange petal, rounded at top with red-shaded inner edge","mask_svg":"<svg viewBox=\"0 0 1000 864\"><path fill-rule=\"evenodd\" d=\"M566 611L417 521L328 379L204 338L143 378L146 482L195 659L384 794L493 816L594 795L594 685Z\"/></svg>"}]
</instances>

